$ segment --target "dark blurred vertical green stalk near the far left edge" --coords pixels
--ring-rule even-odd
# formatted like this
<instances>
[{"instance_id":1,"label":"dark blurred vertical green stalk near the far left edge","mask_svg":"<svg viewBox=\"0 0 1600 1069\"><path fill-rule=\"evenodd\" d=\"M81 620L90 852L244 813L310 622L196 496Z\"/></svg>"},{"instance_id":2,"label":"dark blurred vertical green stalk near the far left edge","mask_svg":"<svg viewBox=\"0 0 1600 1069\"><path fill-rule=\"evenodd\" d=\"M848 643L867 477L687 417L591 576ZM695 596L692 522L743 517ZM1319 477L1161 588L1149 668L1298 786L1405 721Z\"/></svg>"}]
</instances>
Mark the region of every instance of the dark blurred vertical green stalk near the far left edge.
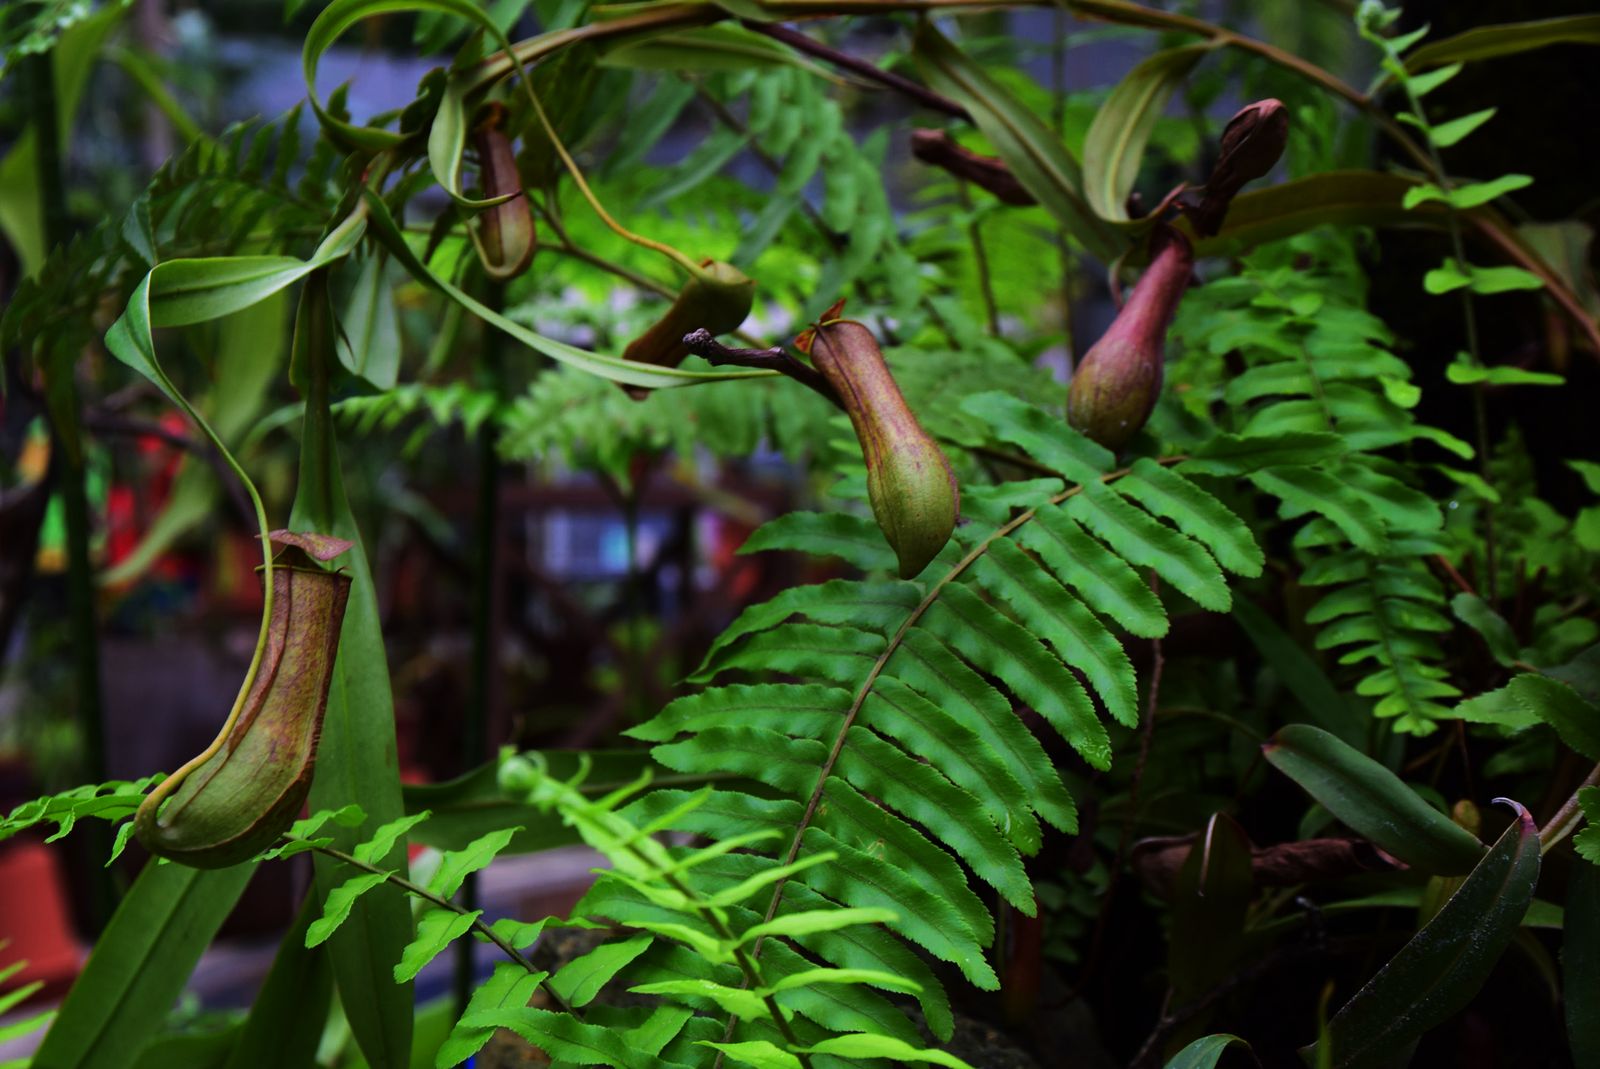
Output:
<instances>
[{"instance_id":1,"label":"dark blurred vertical green stalk near the far left edge","mask_svg":"<svg viewBox=\"0 0 1600 1069\"><path fill-rule=\"evenodd\" d=\"M72 219L61 171L61 125L56 120L54 53L27 59L29 96L34 120L35 182L43 214L45 246L67 240ZM83 733L83 775L91 783L106 779L106 712L101 693L99 626L94 618L94 565L90 560L90 504L85 490L83 430L74 365L58 354L45 357L50 421L54 448L62 453L61 502L67 538L67 629L72 635L72 669L77 685L78 730ZM117 904L112 874L99 866L109 853L107 832L96 821L83 845L90 863L90 925L99 933Z\"/></svg>"}]
</instances>

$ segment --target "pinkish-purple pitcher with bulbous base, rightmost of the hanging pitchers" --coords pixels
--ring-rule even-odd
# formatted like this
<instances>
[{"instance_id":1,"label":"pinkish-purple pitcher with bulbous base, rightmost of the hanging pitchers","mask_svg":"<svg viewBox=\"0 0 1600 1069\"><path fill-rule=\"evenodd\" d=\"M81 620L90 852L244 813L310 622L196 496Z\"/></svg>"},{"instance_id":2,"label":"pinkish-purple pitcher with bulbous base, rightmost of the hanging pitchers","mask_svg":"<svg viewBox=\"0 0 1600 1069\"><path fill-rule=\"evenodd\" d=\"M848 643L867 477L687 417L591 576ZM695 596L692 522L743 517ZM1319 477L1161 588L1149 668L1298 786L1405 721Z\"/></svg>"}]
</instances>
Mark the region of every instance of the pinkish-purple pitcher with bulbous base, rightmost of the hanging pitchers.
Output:
<instances>
[{"instance_id":1,"label":"pinkish-purple pitcher with bulbous base, rightmost of the hanging pitchers","mask_svg":"<svg viewBox=\"0 0 1600 1069\"><path fill-rule=\"evenodd\" d=\"M1189 285L1194 248L1162 226L1150 266L1106 334L1072 373L1067 422L1109 450L1139 434L1162 392L1166 328Z\"/></svg>"}]
</instances>

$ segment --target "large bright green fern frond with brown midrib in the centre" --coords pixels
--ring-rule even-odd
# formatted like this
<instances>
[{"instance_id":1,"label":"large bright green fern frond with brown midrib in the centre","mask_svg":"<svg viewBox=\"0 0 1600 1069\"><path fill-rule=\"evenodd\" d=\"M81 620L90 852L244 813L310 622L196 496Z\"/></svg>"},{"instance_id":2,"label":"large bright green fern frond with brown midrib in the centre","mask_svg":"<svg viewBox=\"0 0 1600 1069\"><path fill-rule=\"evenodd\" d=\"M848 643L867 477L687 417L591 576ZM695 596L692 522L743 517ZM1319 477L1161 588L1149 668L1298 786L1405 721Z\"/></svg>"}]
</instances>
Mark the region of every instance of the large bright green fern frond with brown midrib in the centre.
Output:
<instances>
[{"instance_id":1,"label":"large bright green fern frond with brown midrib in the centre","mask_svg":"<svg viewBox=\"0 0 1600 1069\"><path fill-rule=\"evenodd\" d=\"M795 893L888 907L899 936L994 989L984 955L994 917L966 872L1032 914L1022 858L1038 848L1042 824L1077 829L1072 795L1018 709L1107 768L1104 720L1139 717L1118 631L1158 635L1168 626L1141 571L1226 610L1224 570L1258 575L1262 555L1238 517L1174 470L1184 458L1117 467L1059 416L1005 394L981 394L965 413L989 443L1022 450L1061 478L968 488L968 522L912 583L880 578L893 554L866 518L774 520L746 552L837 555L867 578L790 589L746 610L693 677L723 685L629 733L654 743L672 770L760 784L718 791L669 823L712 839L771 827L789 843L778 858L744 853L726 864L837 853L757 895L766 917L784 917ZM770 682L774 674L786 682ZM635 805L661 813L669 803L658 792Z\"/></svg>"}]
</instances>

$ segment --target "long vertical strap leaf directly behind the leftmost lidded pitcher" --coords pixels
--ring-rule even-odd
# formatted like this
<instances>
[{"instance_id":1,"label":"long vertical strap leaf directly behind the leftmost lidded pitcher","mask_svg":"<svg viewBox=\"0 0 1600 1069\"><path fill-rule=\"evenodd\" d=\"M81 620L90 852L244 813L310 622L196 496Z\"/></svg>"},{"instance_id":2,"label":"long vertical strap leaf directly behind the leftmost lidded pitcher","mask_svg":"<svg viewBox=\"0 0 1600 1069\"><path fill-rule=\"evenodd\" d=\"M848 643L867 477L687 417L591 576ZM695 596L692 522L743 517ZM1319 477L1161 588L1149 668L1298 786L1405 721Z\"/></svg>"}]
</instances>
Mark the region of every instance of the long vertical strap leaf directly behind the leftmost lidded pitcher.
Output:
<instances>
[{"instance_id":1,"label":"long vertical strap leaf directly behind the leftmost lidded pitcher","mask_svg":"<svg viewBox=\"0 0 1600 1069\"><path fill-rule=\"evenodd\" d=\"M389 661L373 575L362 533L350 514L339 472L333 416L328 411L333 374L334 325L328 306L326 272L307 278L294 318L294 365L306 378L306 429L301 437L299 486L290 525L344 538L354 546L344 557L350 573L350 600L328 690L310 787L310 810L338 810L357 802L366 813L360 827L334 829L334 845L354 850L373 829L405 815L400 799L400 767L395 754L394 699ZM363 831L365 829L365 831ZM387 871L405 871L405 845L395 842L387 856L374 859ZM346 872L328 858L317 858L317 887L328 895ZM405 895L381 887L363 895L350 919L330 939L339 1003L350 1031L373 1069L405 1069L411 1056L411 984L397 984L394 967L411 941L411 911Z\"/></svg>"}]
</instances>

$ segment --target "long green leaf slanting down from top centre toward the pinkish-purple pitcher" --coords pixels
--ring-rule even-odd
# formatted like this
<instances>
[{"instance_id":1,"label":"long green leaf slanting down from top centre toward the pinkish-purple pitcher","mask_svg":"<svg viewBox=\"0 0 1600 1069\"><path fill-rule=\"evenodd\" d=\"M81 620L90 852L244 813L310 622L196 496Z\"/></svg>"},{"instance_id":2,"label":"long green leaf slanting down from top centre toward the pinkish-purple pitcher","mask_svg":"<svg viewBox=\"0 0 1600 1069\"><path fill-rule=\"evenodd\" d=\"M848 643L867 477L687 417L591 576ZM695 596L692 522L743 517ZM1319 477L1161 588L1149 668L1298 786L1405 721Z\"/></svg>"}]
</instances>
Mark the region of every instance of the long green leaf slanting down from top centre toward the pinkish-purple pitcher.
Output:
<instances>
[{"instance_id":1,"label":"long green leaf slanting down from top centre toward the pinkish-purple pitcher","mask_svg":"<svg viewBox=\"0 0 1600 1069\"><path fill-rule=\"evenodd\" d=\"M939 34L930 19L917 26L912 59L931 90L966 107L1016 179L1067 234L1106 262L1126 250L1126 240L1083 200L1083 176L1061 138Z\"/></svg>"}]
</instances>

